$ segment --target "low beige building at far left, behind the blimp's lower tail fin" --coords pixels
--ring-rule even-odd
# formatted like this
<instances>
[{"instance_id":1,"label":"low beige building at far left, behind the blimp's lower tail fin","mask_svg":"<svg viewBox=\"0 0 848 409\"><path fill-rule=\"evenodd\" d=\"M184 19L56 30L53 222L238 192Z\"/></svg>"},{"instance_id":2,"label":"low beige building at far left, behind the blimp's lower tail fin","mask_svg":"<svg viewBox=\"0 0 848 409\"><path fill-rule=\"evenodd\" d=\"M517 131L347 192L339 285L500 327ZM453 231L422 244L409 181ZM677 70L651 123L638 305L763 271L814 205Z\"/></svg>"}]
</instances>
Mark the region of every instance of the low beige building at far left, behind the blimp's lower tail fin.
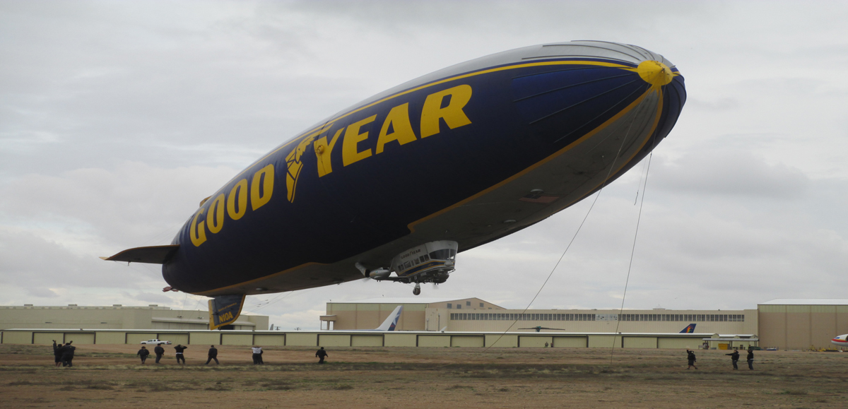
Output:
<instances>
[{"instance_id":1,"label":"low beige building at far left, behind the blimp's lower tail fin","mask_svg":"<svg viewBox=\"0 0 848 409\"><path fill-rule=\"evenodd\" d=\"M148 306L0 306L0 329L209 329L209 311ZM242 315L232 328L268 329L267 316Z\"/></svg>"}]
</instances>

